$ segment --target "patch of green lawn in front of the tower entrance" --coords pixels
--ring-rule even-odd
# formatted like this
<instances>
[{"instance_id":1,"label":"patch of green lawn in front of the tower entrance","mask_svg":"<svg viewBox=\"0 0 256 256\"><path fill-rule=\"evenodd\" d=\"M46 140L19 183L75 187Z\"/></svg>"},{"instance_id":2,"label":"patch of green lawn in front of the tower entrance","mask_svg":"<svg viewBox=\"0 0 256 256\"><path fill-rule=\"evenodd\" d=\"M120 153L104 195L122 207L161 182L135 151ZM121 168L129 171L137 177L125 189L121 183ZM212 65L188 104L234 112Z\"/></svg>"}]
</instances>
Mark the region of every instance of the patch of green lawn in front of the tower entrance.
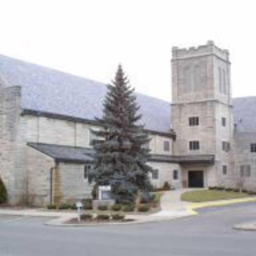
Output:
<instances>
[{"instance_id":1,"label":"patch of green lawn in front of the tower entrance","mask_svg":"<svg viewBox=\"0 0 256 256\"><path fill-rule=\"evenodd\" d=\"M207 202L248 197L248 194L225 190L195 190L181 194L180 199L187 202Z\"/></svg>"}]
</instances>

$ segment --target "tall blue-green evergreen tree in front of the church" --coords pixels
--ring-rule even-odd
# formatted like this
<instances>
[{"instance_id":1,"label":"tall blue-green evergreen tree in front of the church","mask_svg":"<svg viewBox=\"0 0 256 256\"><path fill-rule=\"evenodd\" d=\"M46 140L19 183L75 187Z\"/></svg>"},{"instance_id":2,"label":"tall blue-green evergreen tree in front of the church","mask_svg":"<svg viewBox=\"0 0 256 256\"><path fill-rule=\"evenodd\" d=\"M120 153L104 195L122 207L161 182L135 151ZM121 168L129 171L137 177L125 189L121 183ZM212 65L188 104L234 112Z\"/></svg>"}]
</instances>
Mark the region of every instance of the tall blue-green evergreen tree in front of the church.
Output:
<instances>
[{"instance_id":1,"label":"tall blue-green evergreen tree in front of the church","mask_svg":"<svg viewBox=\"0 0 256 256\"><path fill-rule=\"evenodd\" d=\"M143 131L144 125L138 123L140 107L133 92L119 65L112 85L108 85L103 116L96 118L102 129L92 131L104 139L94 144L92 177L97 186L111 185L119 203L134 202L138 191L150 188L148 172L152 169L146 164L149 150L143 147L150 139Z\"/></svg>"}]
</instances>

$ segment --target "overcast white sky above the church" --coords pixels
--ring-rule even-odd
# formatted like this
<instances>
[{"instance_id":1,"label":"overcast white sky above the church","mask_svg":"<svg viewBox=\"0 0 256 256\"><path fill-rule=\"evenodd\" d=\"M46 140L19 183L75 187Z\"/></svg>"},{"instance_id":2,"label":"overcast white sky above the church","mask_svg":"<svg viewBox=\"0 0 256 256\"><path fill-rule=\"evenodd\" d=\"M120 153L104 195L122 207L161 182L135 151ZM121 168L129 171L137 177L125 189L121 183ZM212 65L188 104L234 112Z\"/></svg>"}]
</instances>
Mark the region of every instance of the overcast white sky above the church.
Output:
<instances>
[{"instance_id":1,"label":"overcast white sky above the church","mask_svg":"<svg viewBox=\"0 0 256 256\"><path fill-rule=\"evenodd\" d=\"M0 0L0 54L171 101L172 46L229 49L233 96L256 95L254 1ZM1 72L1 70L0 70Z\"/></svg>"}]
</instances>

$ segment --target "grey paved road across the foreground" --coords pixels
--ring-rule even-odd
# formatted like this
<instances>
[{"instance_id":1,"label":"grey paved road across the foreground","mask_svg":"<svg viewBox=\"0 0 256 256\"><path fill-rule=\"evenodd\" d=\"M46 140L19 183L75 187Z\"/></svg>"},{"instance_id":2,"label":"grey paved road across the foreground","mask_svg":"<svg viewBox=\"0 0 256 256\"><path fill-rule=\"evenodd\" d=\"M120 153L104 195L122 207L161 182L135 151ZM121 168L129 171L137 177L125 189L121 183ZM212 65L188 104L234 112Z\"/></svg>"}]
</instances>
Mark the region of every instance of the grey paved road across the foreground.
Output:
<instances>
[{"instance_id":1,"label":"grey paved road across the foreground","mask_svg":"<svg viewBox=\"0 0 256 256\"><path fill-rule=\"evenodd\" d=\"M233 224L256 219L256 204L201 210L168 222L109 227L49 227L45 218L0 216L1 256L256 255L256 232Z\"/></svg>"}]
</instances>

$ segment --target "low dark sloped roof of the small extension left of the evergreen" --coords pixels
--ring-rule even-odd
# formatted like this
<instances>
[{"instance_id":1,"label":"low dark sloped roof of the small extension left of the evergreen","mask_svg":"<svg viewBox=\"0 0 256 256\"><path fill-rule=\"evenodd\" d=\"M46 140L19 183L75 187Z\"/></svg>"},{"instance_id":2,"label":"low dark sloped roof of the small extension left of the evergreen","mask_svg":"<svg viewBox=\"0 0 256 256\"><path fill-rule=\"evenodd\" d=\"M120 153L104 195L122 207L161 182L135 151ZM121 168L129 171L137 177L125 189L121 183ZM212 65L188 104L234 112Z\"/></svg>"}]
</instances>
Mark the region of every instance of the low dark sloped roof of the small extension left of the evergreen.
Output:
<instances>
[{"instance_id":1,"label":"low dark sloped roof of the small extension left of the evergreen","mask_svg":"<svg viewBox=\"0 0 256 256\"><path fill-rule=\"evenodd\" d=\"M60 146L44 143L28 143L28 146L35 148L56 161L68 163L91 163L93 150L91 148L78 148Z\"/></svg>"}]
</instances>

